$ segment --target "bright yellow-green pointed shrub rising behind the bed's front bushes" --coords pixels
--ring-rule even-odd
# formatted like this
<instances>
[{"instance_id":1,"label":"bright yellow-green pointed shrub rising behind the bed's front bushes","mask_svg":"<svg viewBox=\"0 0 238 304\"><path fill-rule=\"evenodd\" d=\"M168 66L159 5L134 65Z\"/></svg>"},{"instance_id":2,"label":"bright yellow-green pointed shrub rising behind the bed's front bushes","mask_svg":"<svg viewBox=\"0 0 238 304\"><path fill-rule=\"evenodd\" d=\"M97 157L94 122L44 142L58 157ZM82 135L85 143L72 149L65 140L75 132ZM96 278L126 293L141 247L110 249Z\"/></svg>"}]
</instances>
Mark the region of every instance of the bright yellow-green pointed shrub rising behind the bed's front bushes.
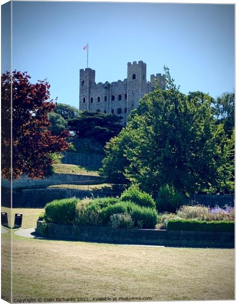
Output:
<instances>
[{"instance_id":1,"label":"bright yellow-green pointed shrub rising behind the bed's front bushes","mask_svg":"<svg viewBox=\"0 0 238 304\"><path fill-rule=\"evenodd\" d=\"M135 184L131 184L130 187L122 193L121 200L132 201L140 206L155 208L155 202L152 196L140 191L139 186Z\"/></svg>"}]
</instances>

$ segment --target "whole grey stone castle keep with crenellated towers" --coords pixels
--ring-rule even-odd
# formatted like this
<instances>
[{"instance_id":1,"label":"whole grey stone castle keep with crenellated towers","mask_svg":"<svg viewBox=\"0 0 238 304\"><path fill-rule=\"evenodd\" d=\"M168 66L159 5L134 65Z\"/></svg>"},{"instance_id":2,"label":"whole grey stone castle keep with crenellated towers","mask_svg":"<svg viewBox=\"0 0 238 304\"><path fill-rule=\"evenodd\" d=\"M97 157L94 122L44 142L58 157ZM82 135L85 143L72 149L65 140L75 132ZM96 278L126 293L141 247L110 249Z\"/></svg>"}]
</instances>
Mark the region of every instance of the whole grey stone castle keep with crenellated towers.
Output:
<instances>
[{"instance_id":1,"label":"whole grey stone castle keep with crenellated towers","mask_svg":"<svg viewBox=\"0 0 238 304\"><path fill-rule=\"evenodd\" d=\"M124 81L95 83L95 70L80 70L80 110L102 113L114 113L122 116L126 125L128 115L138 107L138 101L146 93L154 90L155 79L158 86L165 90L165 75L150 75L146 81L146 63L133 61L127 64L127 78Z\"/></svg>"}]
</instances>

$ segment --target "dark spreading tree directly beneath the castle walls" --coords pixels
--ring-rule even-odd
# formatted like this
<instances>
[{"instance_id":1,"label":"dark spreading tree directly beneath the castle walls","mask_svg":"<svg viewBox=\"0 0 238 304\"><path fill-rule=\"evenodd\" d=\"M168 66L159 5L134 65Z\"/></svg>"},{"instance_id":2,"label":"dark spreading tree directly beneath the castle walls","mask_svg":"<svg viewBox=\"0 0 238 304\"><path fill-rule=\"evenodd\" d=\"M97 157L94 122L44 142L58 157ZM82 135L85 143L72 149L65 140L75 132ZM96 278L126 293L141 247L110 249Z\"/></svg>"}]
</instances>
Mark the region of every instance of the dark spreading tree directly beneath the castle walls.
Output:
<instances>
[{"instance_id":1,"label":"dark spreading tree directly beneath the castle walls","mask_svg":"<svg viewBox=\"0 0 238 304\"><path fill-rule=\"evenodd\" d=\"M122 117L100 112L85 111L80 116L69 120L69 130L78 138L94 138L105 145L113 136L117 135L122 126L119 124Z\"/></svg>"}]
</instances>

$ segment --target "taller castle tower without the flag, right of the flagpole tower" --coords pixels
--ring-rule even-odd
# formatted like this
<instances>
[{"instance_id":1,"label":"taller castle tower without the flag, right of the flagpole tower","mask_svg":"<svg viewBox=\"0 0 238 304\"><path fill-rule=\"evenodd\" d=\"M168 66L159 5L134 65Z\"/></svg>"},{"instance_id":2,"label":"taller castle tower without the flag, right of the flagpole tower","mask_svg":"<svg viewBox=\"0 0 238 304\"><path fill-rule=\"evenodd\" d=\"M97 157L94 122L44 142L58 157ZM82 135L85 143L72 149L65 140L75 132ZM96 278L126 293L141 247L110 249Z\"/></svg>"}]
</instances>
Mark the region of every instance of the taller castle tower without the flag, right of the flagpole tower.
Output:
<instances>
[{"instance_id":1,"label":"taller castle tower without the flag, right of the flagpole tower","mask_svg":"<svg viewBox=\"0 0 238 304\"><path fill-rule=\"evenodd\" d=\"M133 61L127 64L127 117L138 107L139 99L147 93L146 63Z\"/></svg>"}]
</instances>

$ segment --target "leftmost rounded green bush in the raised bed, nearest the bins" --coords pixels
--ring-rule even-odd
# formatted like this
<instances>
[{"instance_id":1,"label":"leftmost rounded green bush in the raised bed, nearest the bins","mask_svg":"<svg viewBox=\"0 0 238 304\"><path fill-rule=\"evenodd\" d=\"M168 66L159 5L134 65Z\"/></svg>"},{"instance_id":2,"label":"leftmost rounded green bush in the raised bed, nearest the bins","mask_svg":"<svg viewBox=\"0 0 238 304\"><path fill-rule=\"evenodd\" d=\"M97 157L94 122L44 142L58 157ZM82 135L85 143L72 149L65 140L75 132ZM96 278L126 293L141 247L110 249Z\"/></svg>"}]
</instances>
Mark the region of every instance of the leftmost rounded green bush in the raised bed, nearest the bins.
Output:
<instances>
[{"instance_id":1,"label":"leftmost rounded green bush in the raised bed, nearest the bins","mask_svg":"<svg viewBox=\"0 0 238 304\"><path fill-rule=\"evenodd\" d=\"M55 200L46 204L45 219L48 222L70 224L75 218L75 209L78 199Z\"/></svg>"}]
</instances>

